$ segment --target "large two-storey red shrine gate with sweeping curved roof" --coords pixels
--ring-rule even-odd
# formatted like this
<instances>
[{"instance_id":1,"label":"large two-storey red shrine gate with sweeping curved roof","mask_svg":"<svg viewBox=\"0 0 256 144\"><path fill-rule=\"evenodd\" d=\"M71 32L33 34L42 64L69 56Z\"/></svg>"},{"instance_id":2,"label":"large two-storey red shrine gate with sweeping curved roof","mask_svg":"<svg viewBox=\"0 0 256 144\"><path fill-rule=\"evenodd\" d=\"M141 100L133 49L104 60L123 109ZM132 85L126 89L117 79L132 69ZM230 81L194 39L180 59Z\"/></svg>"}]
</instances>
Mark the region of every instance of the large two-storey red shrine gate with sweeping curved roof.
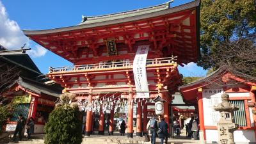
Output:
<instances>
[{"instance_id":1,"label":"large two-storey red shrine gate with sweeping curved roof","mask_svg":"<svg viewBox=\"0 0 256 144\"><path fill-rule=\"evenodd\" d=\"M99 134L104 131L104 111L111 111L111 133L113 113L116 108L127 105L127 131L132 137L132 107L135 104L136 132L141 136L141 132L146 131L148 99L157 95L167 101L164 102L164 118L169 124L171 95L182 83L177 65L195 62L198 58L199 8L198 0L173 8L166 3L129 12L83 17L77 26L24 30L24 33L74 63L72 67L50 68L48 76L65 87L65 92L76 93L76 99L87 106L87 136L92 132L93 111L100 113ZM136 97L132 70L140 45L150 45L144 66L150 96L145 99ZM177 56L177 61L173 56Z\"/></svg>"}]
</instances>

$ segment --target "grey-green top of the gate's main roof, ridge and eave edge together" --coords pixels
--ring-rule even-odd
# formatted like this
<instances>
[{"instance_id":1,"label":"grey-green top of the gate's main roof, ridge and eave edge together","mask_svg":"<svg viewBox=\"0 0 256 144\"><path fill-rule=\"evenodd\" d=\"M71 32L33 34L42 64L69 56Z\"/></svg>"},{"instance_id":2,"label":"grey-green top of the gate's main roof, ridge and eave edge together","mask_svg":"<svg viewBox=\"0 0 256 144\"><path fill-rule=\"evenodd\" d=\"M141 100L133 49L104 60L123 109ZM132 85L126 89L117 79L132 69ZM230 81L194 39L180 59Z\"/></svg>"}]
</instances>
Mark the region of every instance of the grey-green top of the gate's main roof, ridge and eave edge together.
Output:
<instances>
[{"instance_id":1,"label":"grey-green top of the gate's main roof, ridge and eave edge together","mask_svg":"<svg viewBox=\"0 0 256 144\"><path fill-rule=\"evenodd\" d=\"M63 28L44 29L44 30L23 30L24 34L30 35L44 35L51 33L60 33L64 31L73 31L78 29L95 28L100 26L119 24L123 22L131 22L134 20L148 19L152 17L158 17L161 15L168 15L170 13L181 12L183 10L189 10L200 6L200 0L195 0L191 3L182 4L170 8L170 2L166 4L160 4L158 6L152 6L149 8L142 8L138 10L132 10L122 13L114 13L109 15L101 15L95 17L82 17L83 20L76 26L68 26Z\"/></svg>"}]
</instances>

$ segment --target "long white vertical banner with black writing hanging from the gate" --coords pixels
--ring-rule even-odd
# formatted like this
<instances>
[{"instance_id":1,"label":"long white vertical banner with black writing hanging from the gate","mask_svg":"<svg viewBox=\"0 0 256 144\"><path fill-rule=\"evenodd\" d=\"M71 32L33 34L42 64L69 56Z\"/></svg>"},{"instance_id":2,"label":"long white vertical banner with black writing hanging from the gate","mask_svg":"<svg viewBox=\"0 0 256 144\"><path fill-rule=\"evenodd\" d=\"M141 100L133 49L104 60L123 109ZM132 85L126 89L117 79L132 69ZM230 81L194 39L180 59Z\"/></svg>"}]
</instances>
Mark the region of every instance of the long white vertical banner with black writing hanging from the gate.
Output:
<instances>
[{"instance_id":1,"label":"long white vertical banner with black writing hanging from the gate","mask_svg":"<svg viewBox=\"0 0 256 144\"><path fill-rule=\"evenodd\" d=\"M133 76L136 86L137 98L148 98L148 79L146 72L146 61L148 56L149 45L138 46L136 56L133 60Z\"/></svg>"}]
</instances>

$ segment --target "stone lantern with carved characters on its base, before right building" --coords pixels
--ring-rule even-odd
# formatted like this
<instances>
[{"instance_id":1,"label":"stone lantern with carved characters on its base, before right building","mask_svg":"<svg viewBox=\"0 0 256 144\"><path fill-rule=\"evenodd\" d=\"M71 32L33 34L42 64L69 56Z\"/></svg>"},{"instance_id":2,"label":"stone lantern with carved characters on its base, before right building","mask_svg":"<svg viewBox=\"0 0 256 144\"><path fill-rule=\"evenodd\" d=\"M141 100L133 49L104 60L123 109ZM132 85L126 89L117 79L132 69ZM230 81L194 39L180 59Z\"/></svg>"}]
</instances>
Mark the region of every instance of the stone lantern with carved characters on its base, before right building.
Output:
<instances>
[{"instance_id":1,"label":"stone lantern with carved characters on its base, before right building","mask_svg":"<svg viewBox=\"0 0 256 144\"><path fill-rule=\"evenodd\" d=\"M232 144L234 143L234 131L238 128L235 124L234 111L239 109L239 106L228 102L229 95L223 93L221 95L222 102L214 107L214 110L220 111L220 121L217 123L219 143Z\"/></svg>"}]
</instances>

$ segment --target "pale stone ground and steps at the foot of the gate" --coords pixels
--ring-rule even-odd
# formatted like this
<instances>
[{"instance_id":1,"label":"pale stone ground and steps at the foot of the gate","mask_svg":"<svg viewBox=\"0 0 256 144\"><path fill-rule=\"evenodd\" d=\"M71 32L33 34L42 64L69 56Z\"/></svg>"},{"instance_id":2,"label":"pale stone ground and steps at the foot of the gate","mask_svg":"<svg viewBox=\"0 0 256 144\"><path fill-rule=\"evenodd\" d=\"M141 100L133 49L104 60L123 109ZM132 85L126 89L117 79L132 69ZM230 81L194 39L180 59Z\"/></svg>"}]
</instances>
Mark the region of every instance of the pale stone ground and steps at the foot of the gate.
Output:
<instances>
[{"instance_id":1,"label":"pale stone ground and steps at the foot of the gate","mask_svg":"<svg viewBox=\"0 0 256 144\"><path fill-rule=\"evenodd\" d=\"M120 136L118 132L114 132L114 136L108 136L108 132L105 132L104 136L100 135L91 135L90 137L84 137L82 144L117 144L117 143L144 143L144 144L150 144L150 142L144 142L144 137L137 137L134 136L134 138L127 138L127 136ZM184 132L180 134L181 136L175 136L175 138L169 138L168 139L168 144L196 144L199 143L198 140L190 140L184 136ZM6 144L6 143L27 143L27 144L43 144L44 143L44 134L34 134L32 136L32 140L26 140L24 138L22 141L15 141L15 142L10 142L7 138L5 141L1 141L0 144ZM156 143L160 143L159 138L156 138Z\"/></svg>"}]
</instances>

